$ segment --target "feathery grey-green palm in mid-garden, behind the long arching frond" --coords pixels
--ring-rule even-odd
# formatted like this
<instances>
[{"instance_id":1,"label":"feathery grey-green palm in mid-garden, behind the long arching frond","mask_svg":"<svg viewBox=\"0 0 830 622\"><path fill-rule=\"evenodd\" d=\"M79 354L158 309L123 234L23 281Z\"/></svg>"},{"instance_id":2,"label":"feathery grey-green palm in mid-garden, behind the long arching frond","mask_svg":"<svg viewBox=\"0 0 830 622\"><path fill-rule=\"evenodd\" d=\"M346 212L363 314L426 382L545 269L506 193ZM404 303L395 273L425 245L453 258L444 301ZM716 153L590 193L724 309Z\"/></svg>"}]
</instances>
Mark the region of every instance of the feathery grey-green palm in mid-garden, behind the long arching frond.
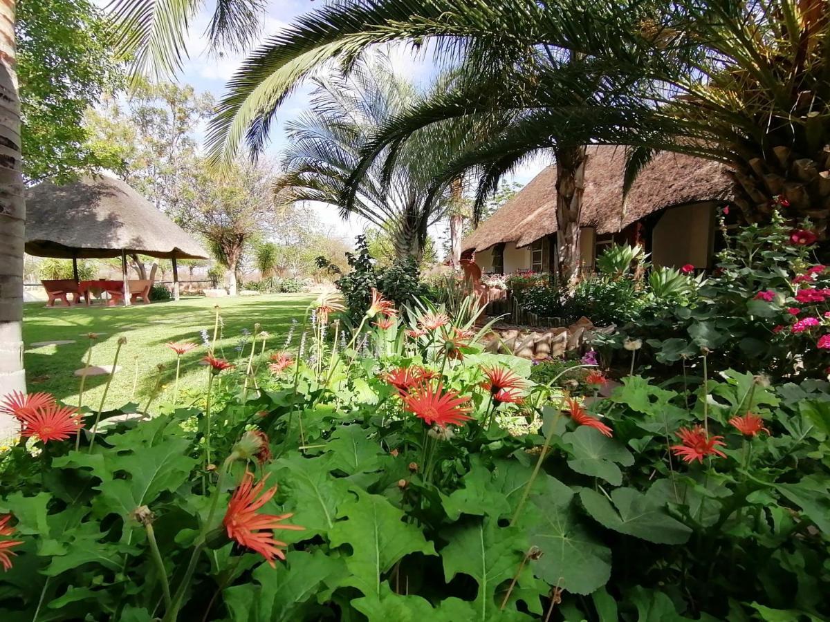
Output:
<instances>
[{"instance_id":1,"label":"feathery grey-green palm in mid-garden, behind the long arching frond","mask_svg":"<svg viewBox=\"0 0 830 622\"><path fill-rule=\"evenodd\" d=\"M290 146L276 182L278 202L324 202L340 216L364 217L387 231L395 255L420 260L427 227L442 217L444 192L430 192L442 162L435 134L414 133L406 148L381 166L367 167L354 184L353 200L343 202L344 182L354 173L366 143L381 124L417 103L415 87L395 75L383 54L360 61L349 75L315 79L310 110L288 124ZM442 134L442 138L444 134Z\"/></svg>"}]
</instances>

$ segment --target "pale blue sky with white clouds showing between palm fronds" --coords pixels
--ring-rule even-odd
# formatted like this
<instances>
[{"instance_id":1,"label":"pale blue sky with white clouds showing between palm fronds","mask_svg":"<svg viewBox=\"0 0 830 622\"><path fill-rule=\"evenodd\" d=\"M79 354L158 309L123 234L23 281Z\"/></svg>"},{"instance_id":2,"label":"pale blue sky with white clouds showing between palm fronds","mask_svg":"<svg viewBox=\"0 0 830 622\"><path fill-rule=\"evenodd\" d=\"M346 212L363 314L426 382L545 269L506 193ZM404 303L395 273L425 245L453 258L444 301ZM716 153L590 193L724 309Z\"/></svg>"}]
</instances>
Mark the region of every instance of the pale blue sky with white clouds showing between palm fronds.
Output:
<instances>
[{"instance_id":1,"label":"pale blue sky with white clouds showing between palm fronds","mask_svg":"<svg viewBox=\"0 0 830 622\"><path fill-rule=\"evenodd\" d=\"M109 0L98 0L103 4ZM208 91L217 99L222 96L225 90L226 81L233 75L241 65L244 58L242 55L224 55L217 57L207 52L207 39L204 37L205 28L211 14L213 2L205 2L206 7L193 22L193 27L188 34L189 59L185 61L183 72L179 80L183 83L193 85L198 91ZM311 11L323 4L321 0L310 2L310 0L270 0L264 25L262 28L261 40L278 32L286 27L295 17L304 12ZM408 75L417 84L428 85L432 76L432 65L427 59L415 58L413 54L403 47L394 48L389 51L393 60L395 70ZM271 131L271 143L267 149L269 157L275 160L279 158L281 148L286 144L284 124L286 120L294 118L305 109L308 104L309 89L300 88L295 95L284 105L278 122ZM507 181L516 181L525 184L532 179L536 173L544 168L543 162L531 163L522 168L514 177ZM339 219L334 207L315 206L315 214L330 231L336 231L334 235L354 239L354 236L364 230L366 223L362 219L353 217L351 221L344 223ZM432 227L431 235L436 239L443 235L446 225L439 223Z\"/></svg>"}]
</instances>

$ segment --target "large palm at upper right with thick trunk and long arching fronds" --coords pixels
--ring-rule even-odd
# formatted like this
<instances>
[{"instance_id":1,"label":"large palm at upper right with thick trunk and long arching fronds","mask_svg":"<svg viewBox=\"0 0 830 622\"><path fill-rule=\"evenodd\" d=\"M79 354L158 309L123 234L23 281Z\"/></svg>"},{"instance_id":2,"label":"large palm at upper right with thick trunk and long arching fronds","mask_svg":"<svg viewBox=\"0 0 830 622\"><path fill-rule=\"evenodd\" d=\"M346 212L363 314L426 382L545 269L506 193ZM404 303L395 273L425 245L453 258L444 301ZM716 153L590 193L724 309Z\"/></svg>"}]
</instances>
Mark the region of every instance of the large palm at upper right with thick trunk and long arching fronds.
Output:
<instances>
[{"instance_id":1,"label":"large palm at upper right with thick trunk and long arching fronds","mask_svg":"<svg viewBox=\"0 0 830 622\"><path fill-rule=\"evenodd\" d=\"M232 158L245 139L256 153L296 85L332 58L354 61L378 43L433 43L445 56L544 46L578 55L576 65L593 78L649 88L627 110L580 111L574 102L534 100L534 91L570 92L570 82L579 81L554 67L542 72L544 86L514 85L512 102L503 82L485 85L489 93L478 105L468 99L456 116L496 109L519 114L526 145L523 151L518 139L510 141L515 154L540 142L550 147L571 131L593 134L593 142L627 144L627 187L659 149L730 163L745 220L762 220L770 198L784 194L793 216L810 216L824 233L830 210L828 15L828 0L335 3L300 18L249 57L229 83L209 142L220 161ZM603 117L608 122L601 124ZM387 144L403 141L398 135Z\"/></svg>"}]
</instances>

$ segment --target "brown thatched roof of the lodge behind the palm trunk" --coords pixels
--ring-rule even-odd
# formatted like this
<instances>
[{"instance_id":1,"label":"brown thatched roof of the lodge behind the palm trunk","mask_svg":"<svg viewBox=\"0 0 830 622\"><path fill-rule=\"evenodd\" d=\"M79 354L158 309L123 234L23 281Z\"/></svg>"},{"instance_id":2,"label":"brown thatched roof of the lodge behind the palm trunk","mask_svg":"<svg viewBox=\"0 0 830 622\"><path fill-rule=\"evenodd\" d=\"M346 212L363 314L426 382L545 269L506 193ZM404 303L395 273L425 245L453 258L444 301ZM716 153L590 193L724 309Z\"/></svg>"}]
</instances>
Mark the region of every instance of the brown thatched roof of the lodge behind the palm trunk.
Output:
<instances>
[{"instance_id":1,"label":"brown thatched roof of the lodge behind the palm trunk","mask_svg":"<svg viewBox=\"0 0 830 622\"><path fill-rule=\"evenodd\" d=\"M645 168L626 198L623 211L623 147L588 148L582 226L616 233L664 207L704 201L729 201L732 181L715 162L677 153L659 153ZM485 250L500 242L526 246L556 231L556 167L539 173L461 244L462 250Z\"/></svg>"}]
</instances>

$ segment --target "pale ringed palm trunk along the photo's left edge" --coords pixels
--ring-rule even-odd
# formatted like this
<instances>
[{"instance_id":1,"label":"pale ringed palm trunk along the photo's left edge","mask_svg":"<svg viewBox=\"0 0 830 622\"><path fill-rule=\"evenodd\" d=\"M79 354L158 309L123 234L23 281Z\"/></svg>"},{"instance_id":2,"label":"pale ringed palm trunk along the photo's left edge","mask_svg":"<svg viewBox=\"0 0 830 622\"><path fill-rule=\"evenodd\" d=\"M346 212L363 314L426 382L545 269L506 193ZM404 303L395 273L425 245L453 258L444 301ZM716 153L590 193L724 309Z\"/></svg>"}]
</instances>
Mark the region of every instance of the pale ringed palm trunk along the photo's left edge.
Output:
<instances>
[{"instance_id":1,"label":"pale ringed palm trunk along the photo's left edge","mask_svg":"<svg viewBox=\"0 0 830 622\"><path fill-rule=\"evenodd\" d=\"M14 0L0 2L0 398L26 391L23 369L23 198L20 100L17 95ZM0 435L15 429L0 420Z\"/></svg>"}]
</instances>

